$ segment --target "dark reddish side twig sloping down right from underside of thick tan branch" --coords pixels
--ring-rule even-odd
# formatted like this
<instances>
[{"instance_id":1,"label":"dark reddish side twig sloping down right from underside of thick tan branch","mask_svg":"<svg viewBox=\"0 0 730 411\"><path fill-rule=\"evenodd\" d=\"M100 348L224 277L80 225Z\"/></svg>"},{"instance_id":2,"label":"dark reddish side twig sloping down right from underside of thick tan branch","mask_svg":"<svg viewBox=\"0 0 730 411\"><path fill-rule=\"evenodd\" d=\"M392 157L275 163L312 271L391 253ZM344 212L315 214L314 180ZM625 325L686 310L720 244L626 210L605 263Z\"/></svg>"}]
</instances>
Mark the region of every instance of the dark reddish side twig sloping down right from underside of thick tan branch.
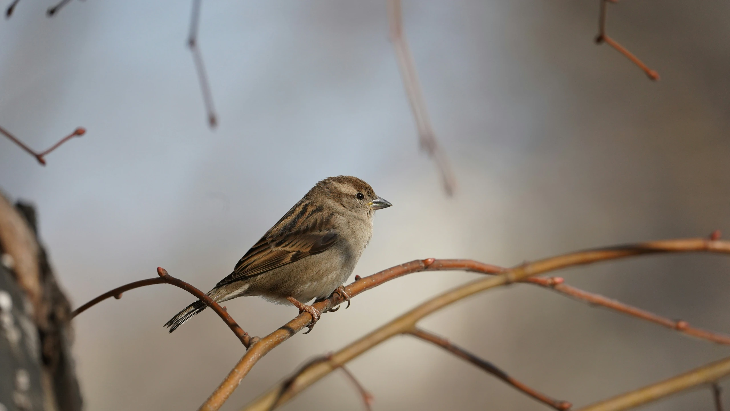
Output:
<instances>
[{"instance_id":1,"label":"dark reddish side twig sloping down right from underside of thick tan branch","mask_svg":"<svg viewBox=\"0 0 730 411\"><path fill-rule=\"evenodd\" d=\"M512 387L516 388L518 391L522 391L523 393L531 396L534 399L537 399L537 401L542 402L549 407L553 407L559 411L569 410L569 408L572 407L572 404L569 402L553 399L550 396L539 393L529 386L520 383L520 381L510 377L510 375L502 371L502 369L497 368L497 366L495 366L491 362L485 361L482 358L479 358L474 354L469 353L469 351L464 350L464 348L458 347L458 345L454 345L448 339L439 337L436 334L431 334L430 332L419 329L418 327L408 331L407 334L410 334L413 337L423 339L423 341L431 342L431 344L437 345L437 347L442 347L444 350L447 350L448 352L459 358L469 361L475 366L483 369L485 372L488 372L489 374L492 374L493 376L499 378L505 383L512 385Z\"/></svg>"}]
</instances>

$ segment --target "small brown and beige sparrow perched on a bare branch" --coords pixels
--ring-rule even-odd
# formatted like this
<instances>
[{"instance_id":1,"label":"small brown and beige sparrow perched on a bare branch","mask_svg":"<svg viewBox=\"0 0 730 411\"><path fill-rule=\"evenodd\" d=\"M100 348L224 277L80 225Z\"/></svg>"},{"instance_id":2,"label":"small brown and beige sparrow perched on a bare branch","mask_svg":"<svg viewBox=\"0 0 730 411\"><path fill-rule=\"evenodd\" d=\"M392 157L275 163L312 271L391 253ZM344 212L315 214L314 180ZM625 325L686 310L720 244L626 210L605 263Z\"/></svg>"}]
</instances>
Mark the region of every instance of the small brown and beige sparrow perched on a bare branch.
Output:
<instances>
[{"instance_id":1,"label":"small brown and beige sparrow perched on a bare branch","mask_svg":"<svg viewBox=\"0 0 730 411\"><path fill-rule=\"evenodd\" d=\"M207 294L218 303L239 296L262 296L279 304L289 301L299 312L312 315L311 330L320 312L304 303L338 292L349 304L342 283L372 237L375 210L385 207L391 203L358 177L326 178L266 231L233 272ZM165 326L175 331L205 307L195 301Z\"/></svg>"}]
</instances>

